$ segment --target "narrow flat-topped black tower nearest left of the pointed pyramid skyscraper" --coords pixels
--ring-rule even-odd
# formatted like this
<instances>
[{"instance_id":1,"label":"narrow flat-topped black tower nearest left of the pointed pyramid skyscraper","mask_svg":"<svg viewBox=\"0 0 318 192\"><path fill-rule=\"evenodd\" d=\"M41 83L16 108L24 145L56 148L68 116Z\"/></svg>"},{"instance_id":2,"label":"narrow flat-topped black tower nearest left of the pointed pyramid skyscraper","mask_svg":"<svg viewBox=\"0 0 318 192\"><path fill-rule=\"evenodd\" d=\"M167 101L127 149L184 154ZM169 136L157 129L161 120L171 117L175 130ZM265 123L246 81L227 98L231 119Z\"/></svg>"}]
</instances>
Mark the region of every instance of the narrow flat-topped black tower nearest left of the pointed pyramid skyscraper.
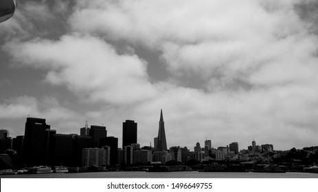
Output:
<instances>
[{"instance_id":1,"label":"narrow flat-topped black tower nearest left of the pointed pyramid skyscraper","mask_svg":"<svg viewBox=\"0 0 318 192\"><path fill-rule=\"evenodd\" d=\"M137 143L137 123L126 120L122 123L122 148Z\"/></svg>"}]
</instances>

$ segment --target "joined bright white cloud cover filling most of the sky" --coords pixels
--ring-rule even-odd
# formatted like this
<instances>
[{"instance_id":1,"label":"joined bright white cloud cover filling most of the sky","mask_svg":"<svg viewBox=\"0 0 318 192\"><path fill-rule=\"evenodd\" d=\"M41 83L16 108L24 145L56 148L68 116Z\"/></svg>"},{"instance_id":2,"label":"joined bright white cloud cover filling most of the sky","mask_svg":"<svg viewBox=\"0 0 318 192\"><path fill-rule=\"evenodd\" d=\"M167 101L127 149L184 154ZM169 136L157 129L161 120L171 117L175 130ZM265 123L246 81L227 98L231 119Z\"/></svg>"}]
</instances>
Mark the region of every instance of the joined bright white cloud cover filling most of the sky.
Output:
<instances>
[{"instance_id":1,"label":"joined bright white cloud cover filling most of the sky","mask_svg":"<svg viewBox=\"0 0 318 192\"><path fill-rule=\"evenodd\" d=\"M16 61L45 69L49 84L100 104L78 115L52 98L42 101L54 106L44 114L71 119L58 124L67 130L89 120L121 139L122 121L133 119L139 143L148 145L163 108L168 145L192 149L207 136L214 147L238 141L247 148L253 137L275 149L304 147L318 134L317 36L295 12L299 2L78 1L71 34L5 48ZM124 53L111 45L119 42L128 43ZM151 83L151 63L130 46L161 53L172 80ZM184 74L198 75L202 86L181 86Z\"/></svg>"}]
</instances>

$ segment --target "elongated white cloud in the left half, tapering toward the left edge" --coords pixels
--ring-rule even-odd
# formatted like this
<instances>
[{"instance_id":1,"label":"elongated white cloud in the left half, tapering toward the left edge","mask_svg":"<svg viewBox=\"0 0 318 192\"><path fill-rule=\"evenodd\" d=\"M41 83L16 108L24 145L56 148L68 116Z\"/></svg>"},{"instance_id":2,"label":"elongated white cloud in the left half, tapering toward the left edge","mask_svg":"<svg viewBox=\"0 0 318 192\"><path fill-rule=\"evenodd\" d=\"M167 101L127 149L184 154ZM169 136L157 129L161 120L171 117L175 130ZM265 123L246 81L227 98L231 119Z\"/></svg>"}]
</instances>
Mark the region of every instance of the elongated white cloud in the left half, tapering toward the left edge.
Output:
<instances>
[{"instance_id":1,"label":"elongated white cloud in the left half, tapering toward the left edge","mask_svg":"<svg viewBox=\"0 0 318 192\"><path fill-rule=\"evenodd\" d=\"M93 36L67 35L58 41L36 39L6 46L17 61L47 69L46 81L66 85L92 101L132 104L155 94L148 82L146 61L119 55Z\"/></svg>"}]
</instances>

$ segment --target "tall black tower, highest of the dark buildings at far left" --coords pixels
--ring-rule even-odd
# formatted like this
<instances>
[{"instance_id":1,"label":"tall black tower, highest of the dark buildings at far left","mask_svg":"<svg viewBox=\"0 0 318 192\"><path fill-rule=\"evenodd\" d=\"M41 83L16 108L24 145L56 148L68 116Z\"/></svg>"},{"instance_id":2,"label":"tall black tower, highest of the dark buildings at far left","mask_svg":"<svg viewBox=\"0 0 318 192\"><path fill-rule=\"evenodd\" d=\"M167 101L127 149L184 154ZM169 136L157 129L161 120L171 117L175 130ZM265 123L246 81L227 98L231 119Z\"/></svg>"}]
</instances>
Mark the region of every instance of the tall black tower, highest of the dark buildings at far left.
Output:
<instances>
[{"instance_id":1,"label":"tall black tower, highest of the dark buildings at far left","mask_svg":"<svg viewBox=\"0 0 318 192\"><path fill-rule=\"evenodd\" d=\"M23 158L27 166L47 165L49 129L45 119L27 117L23 144Z\"/></svg>"}]
</instances>

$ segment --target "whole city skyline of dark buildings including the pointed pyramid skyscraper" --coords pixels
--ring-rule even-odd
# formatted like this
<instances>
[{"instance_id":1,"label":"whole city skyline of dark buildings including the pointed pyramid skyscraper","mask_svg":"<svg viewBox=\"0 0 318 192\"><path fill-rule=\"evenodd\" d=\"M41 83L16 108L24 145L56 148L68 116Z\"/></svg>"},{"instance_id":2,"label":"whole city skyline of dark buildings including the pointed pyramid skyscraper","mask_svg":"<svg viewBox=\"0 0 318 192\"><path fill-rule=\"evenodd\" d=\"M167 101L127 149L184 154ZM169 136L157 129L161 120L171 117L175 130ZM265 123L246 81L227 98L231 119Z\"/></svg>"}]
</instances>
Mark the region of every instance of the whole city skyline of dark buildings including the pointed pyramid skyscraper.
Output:
<instances>
[{"instance_id":1,"label":"whole city skyline of dark buildings including the pointed pyramid skyscraper","mask_svg":"<svg viewBox=\"0 0 318 192\"><path fill-rule=\"evenodd\" d=\"M168 162L185 163L189 160L251 160L251 153L273 152L273 145L252 145L248 150L239 150L238 142L212 147L212 141L205 139L204 146L196 143L194 151L187 147L167 147L163 112L160 112L159 130L154 138L154 147L141 147L137 143L137 123L126 120L122 123L122 147L118 138L108 136L104 125L85 122L80 134L57 134L47 125L45 119L27 117L24 136L12 139L8 130L0 130L0 153L14 154L13 160L5 159L8 165L15 162L19 167L38 165L89 167L119 165L149 165Z\"/></svg>"}]
</instances>

